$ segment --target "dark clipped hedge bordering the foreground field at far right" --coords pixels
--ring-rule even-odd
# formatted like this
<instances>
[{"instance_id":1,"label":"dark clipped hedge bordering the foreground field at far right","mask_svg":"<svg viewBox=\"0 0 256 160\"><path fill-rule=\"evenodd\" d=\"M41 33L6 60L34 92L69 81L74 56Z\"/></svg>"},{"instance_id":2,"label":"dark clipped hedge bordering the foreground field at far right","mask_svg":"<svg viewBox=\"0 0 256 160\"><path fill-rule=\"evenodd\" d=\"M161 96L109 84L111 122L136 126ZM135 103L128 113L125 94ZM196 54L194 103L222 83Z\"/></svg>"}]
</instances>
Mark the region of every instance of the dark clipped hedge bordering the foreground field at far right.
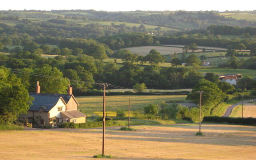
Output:
<instances>
[{"instance_id":1,"label":"dark clipped hedge bordering the foreground field at far right","mask_svg":"<svg viewBox=\"0 0 256 160\"><path fill-rule=\"evenodd\" d=\"M233 118L233 117L218 117L218 116L206 116L202 122L217 122L228 124L247 124L256 125L256 118Z\"/></svg>"}]
</instances>

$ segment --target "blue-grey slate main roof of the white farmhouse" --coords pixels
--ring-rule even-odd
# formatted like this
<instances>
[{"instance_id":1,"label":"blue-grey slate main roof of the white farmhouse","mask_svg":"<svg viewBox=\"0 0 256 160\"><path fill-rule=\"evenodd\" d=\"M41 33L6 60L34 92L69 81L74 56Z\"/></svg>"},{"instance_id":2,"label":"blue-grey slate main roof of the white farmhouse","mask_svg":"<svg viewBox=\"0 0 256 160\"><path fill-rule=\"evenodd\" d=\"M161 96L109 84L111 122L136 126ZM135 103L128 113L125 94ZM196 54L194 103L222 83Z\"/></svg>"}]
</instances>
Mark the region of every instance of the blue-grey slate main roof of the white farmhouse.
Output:
<instances>
[{"instance_id":1,"label":"blue-grey slate main roof of the white farmhouse","mask_svg":"<svg viewBox=\"0 0 256 160\"><path fill-rule=\"evenodd\" d=\"M42 110L45 112L49 112L57 104L57 102L60 99L62 99L61 97L55 97L55 96L39 96L39 95L30 95L30 96L34 97L34 100L32 101L33 104L30 106L30 109L29 109L31 111Z\"/></svg>"}]
</instances>

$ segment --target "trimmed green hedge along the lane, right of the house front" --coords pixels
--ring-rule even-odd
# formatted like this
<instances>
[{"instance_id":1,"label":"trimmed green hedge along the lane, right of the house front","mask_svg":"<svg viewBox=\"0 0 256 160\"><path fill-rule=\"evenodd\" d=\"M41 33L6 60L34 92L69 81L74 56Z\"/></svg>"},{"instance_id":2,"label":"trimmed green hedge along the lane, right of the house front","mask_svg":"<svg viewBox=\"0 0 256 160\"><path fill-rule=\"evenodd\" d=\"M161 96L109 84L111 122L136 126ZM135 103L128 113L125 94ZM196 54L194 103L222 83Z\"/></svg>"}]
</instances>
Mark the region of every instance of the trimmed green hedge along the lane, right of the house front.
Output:
<instances>
[{"instance_id":1,"label":"trimmed green hedge along the lane, right of the house front","mask_svg":"<svg viewBox=\"0 0 256 160\"><path fill-rule=\"evenodd\" d=\"M88 123L61 123L59 128L98 128L103 126L103 121L101 122L88 122ZM113 120L105 121L105 126L114 126Z\"/></svg>"}]
</instances>

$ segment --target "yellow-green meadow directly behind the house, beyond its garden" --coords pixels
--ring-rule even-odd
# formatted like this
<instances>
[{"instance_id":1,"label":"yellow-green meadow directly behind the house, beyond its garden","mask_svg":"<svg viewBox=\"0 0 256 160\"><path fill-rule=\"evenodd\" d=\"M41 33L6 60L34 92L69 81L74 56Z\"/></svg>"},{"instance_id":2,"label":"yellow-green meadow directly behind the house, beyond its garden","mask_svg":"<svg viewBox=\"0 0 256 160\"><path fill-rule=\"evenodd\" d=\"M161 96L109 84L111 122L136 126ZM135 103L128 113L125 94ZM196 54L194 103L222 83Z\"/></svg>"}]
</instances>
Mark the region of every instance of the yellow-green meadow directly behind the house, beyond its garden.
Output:
<instances>
[{"instance_id":1,"label":"yellow-green meadow directly behind the house, beyond its garden","mask_svg":"<svg viewBox=\"0 0 256 160\"><path fill-rule=\"evenodd\" d=\"M185 100L186 96L155 96L155 95L123 95L123 96L106 96L106 112L115 112L118 109L128 109L128 98L130 98L131 110L143 110L148 104L158 104L164 100ZM102 110L103 96L80 96L76 97L80 104L78 109L88 110L88 114L96 113ZM110 113L110 112L109 112ZM98 114L98 112L97 112ZM110 115L109 115L110 116Z\"/></svg>"}]
</instances>

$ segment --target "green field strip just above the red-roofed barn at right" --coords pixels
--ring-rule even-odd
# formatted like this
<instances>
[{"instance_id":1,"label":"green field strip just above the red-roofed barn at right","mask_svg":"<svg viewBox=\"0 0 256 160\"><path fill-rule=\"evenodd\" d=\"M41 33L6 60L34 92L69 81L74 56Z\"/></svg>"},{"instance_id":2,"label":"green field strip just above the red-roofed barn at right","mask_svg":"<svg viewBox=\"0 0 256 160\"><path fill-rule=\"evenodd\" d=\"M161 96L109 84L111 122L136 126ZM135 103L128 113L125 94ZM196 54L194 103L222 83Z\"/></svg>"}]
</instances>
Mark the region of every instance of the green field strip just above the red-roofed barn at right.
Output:
<instances>
[{"instance_id":1,"label":"green field strip just above the red-roofed barn at right","mask_svg":"<svg viewBox=\"0 0 256 160\"><path fill-rule=\"evenodd\" d=\"M256 76L256 70L246 70L246 69L231 69L231 68L222 68L222 69L199 69L198 72L201 73L208 73L213 72L215 74L223 75L223 74L242 74L242 77L244 76Z\"/></svg>"}]
</instances>

